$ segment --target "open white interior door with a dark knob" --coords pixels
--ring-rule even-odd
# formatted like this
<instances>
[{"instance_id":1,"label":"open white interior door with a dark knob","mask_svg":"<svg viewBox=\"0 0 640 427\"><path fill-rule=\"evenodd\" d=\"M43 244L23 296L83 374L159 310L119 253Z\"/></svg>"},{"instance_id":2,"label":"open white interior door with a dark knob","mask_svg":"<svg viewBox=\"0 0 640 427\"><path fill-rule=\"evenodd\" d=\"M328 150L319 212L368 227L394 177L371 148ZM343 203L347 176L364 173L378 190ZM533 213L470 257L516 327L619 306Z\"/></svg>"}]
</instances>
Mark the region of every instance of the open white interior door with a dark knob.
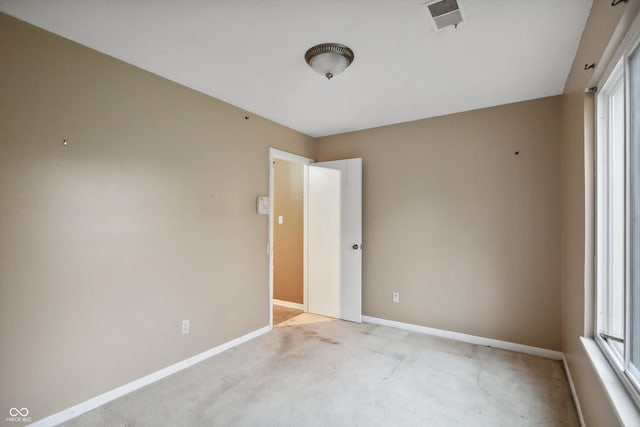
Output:
<instances>
[{"instance_id":1,"label":"open white interior door with a dark knob","mask_svg":"<svg viewBox=\"0 0 640 427\"><path fill-rule=\"evenodd\" d=\"M309 166L308 310L362 321L362 159Z\"/></svg>"}]
</instances>

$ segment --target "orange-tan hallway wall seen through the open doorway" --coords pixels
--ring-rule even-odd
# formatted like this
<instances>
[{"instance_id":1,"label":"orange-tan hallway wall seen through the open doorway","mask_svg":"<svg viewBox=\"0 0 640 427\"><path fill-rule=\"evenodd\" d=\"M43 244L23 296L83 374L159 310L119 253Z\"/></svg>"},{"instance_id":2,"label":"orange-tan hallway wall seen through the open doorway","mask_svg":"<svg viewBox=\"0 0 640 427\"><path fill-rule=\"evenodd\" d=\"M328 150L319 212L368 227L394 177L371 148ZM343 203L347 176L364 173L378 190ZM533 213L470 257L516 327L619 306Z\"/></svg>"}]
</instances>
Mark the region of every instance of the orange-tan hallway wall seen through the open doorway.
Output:
<instances>
[{"instance_id":1,"label":"orange-tan hallway wall seen through the open doorway","mask_svg":"<svg viewBox=\"0 0 640 427\"><path fill-rule=\"evenodd\" d=\"M273 174L273 297L302 304L304 165L276 159Z\"/></svg>"}]
</instances>

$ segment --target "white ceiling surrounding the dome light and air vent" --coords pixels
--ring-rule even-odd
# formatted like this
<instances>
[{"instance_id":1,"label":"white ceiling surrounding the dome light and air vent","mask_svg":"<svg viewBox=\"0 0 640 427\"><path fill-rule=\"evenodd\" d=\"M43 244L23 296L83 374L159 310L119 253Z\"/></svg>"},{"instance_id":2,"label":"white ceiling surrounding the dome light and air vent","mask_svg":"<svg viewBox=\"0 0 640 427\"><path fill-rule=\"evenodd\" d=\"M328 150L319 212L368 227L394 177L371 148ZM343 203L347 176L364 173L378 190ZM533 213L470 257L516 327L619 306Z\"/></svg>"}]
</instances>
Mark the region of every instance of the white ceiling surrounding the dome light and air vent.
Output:
<instances>
[{"instance_id":1,"label":"white ceiling surrounding the dome light and air vent","mask_svg":"<svg viewBox=\"0 0 640 427\"><path fill-rule=\"evenodd\" d=\"M562 93L592 0L0 0L0 11L314 137ZM338 42L331 81L304 61Z\"/></svg>"}]
</instances>

